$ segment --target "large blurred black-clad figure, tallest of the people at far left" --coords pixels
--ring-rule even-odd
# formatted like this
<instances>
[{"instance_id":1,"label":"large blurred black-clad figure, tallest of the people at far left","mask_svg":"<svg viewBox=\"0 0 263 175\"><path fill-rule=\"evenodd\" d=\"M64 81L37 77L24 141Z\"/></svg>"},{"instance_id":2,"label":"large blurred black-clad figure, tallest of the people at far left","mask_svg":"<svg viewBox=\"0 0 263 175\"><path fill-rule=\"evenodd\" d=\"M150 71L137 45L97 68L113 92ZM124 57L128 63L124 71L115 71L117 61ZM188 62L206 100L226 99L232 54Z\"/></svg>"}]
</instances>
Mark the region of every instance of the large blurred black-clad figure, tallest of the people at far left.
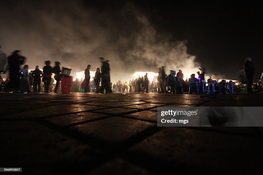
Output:
<instances>
[{"instance_id":1,"label":"large blurred black-clad figure, tallest of the people at far left","mask_svg":"<svg viewBox=\"0 0 263 175\"><path fill-rule=\"evenodd\" d=\"M20 84L20 65L22 65L26 59L26 57L21 56L22 52L20 50L15 50L13 55L8 56L7 62L9 66L9 85L10 88L13 89L13 92L18 92L19 84Z\"/></svg>"}]
</instances>

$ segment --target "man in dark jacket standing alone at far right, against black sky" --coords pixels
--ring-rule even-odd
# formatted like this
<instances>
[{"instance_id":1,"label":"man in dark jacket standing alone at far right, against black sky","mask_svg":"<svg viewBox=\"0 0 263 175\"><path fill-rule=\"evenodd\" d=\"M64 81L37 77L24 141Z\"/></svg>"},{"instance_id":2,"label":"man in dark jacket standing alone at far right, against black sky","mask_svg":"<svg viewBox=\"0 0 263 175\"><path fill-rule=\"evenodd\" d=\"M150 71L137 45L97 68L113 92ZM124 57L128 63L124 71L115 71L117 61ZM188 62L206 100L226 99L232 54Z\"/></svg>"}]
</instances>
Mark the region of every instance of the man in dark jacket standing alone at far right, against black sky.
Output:
<instances>
[{"instance_id":1,"label":"man in dark jacket standing alone at far right, against black sky","mask_svg":"<svg viewBox=\"0 0 263 175\"><path fill-rule=\"evenodd\" d=\"M253 84L253 75L254 75L255 69L256 69L256 67L251 62L251 58L246 57L245 63L244 63L244 72L245 72L245 76L247 79L247 92L249 92L249 93L253 93L252 84Z\"/></svg>"}]
</instances>

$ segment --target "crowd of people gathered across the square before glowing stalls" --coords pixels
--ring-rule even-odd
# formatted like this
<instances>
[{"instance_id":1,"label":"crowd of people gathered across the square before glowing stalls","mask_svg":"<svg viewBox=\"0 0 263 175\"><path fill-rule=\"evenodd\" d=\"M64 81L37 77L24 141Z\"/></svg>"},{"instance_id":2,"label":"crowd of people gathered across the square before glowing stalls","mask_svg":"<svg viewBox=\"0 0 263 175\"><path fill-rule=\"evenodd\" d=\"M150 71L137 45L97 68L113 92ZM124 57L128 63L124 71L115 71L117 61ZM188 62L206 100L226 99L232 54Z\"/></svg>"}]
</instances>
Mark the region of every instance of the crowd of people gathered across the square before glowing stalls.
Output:
<instances>
[{"instance_id":1,"label":"crowd of people gathered across the square before glowing stalls","mask_svg":"<svg viewBox=\"0 0 263 175\"><path fill-rule=\"evenodd\" d=\"M13 93L61 92L60 62L56 61L55 66L51 67L51 61L48 60L44 62L43 72L39 70L39 66L36 66L34 71L28 72L28 65L24 65L23 68L20 69L20 65L23 65L25 60L26 57L22 56L20 50L15 50L12 55L6 58L6 54L1 51L0 45L0 73L9 71L9 79L6 79L6 81L3 81L0 75L1 91ZM72 77L71 92L79 92L79 89L83 88L85 93L92 92L92 90L96 93L123 92L126 90L130 93L168 93L169 91L170 93L186 94L189 91L190 82L200 82L205 79L205 68L199 68L201 72L196 72L198 78L196 78L193 73L189 78L184 80L182 70L178 70L177 73L175 70L170 70L169 75L166 75L165 67L163 66L158 69L158 78L152 81L148 79L148 73L146 73L144 76L138 76L129 81L122 82L120 79L116 83L112 83L112 81L110 81L109 61L103 57L100 57L99 60L102 63L102 67L101 69L99 67L96 69L93 79L90 77L91 65L88 65L85 69L84 79L79 80L76 78L76 80L73 81L74 77ZM255 69L256 67L251 62L251 58L246 57L244 72L247 79L247 89L250 93L253 93L252 84ZM54 73L55 84L52 73ZM214 78L218 79L217 77ZM261 76L261 81L263 82L262 78L263 73ZM207 82L212 83L213 79L210 77L207 79Z\"/></svg>"}]
</instances>

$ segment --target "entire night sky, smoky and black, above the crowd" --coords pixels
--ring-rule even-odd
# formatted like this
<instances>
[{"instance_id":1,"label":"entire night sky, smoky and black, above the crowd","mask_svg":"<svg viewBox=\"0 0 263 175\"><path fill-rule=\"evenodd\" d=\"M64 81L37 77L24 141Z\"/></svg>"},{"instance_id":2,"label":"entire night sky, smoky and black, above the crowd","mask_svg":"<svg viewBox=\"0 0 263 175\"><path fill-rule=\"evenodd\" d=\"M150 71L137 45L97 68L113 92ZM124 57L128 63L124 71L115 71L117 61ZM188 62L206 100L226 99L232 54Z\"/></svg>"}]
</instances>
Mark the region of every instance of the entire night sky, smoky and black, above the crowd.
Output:
<instances>
[{"instance_id":1,"label":"entire night sky, smoky and black, above the crowd","mask_svg":"<svg viewBox=\"0 0 263 175\"><path fill-rule=\"evenodd\" d=\"M51 12L50 9L52 9ZM27 64L31 68L35 64L42 67L41 63L48 58L53 62L60 61L65 66L72 57L84 59L83 57L87 56L92 60L87 62L91 62L95 69L100 67L99 61L95 58L104 56L110 60L112 77L115 79L119 77L128 79L135 71L157 72L156 68L163 65L168 66L167 69L170 70L173 69L169 67L170 62L174 62L175 70L184 68L195 73L195 67L202 66L206 68L208 76L219 74L222 75L222 78L237 79L236 72L243 68L245 57L250 56L257 67L254 81L260 79L263 72L262 3L249 1L246 3L240 1L80 1L75 4L63 1L41 1L41 3L3 1L0 10L4 18L4 25L0 26L2 50L8 55L15 49L25 50L23 53L28 57ZM52 15L48 16L49 14ZM70 32L67 29L67 21L64 22L60 18L63 17L63 14L70 14L68 19ZM140 18L143 22L138 22L138 16L143 17ZM49 26L42 23L43 19L48 19L48 21L52 19L56 23L61 22L62 25L58 25L62 26L59 28L60 32L52 30L54 25ZM74 24L75 20L80 23ZM67 30L66 36L60 35L64 30L63 24L66 26L64 29ZM99 26L99 30L96 26ZM91 31L90 33L93 33L93 36L85 33L87 31L83 29L85 27ZM83 31L79 32L78 29L83 29ZM149 31L146 31L148 29ZM53 31L57 33L54 35ZM102 31L103 36L100 34L97 36L95 31L98 33ZM34 33L37 33L33 37L36 39L30 40L30 37L26 36L34 35ZM76 33L78 35L81 33L82 36L75 36ZM138 37L138 33L143 34ZM16 34L19 36L15 37ZM58 36L58 39L53 41L54 36ZM79 42L76 39L78 37L81 38ZM24 44L21 44L19 38L23 41L27 40L27 47L23 47ZM138 41L145 38L146 41L142 43ZM72 39L76 41L73 42ZM182 47L178 47L171 54L173 45L180 41L184 42ZM65 45L66 42L71 42L71 45ZM97 45L94 46L94 42L98 42ZM74 49L76 43L78 47ZM80 49L81 43L83 43L83 48L92 47L93 50L89 49L84 52L83 48ZM140 48L144 45L148 46ZM155 49L149 51L151 45ZM31 48L33 52L28 48ZM68 48L73 51L65 51L69 50ZM181 48L185 50L178 54ZM162 50L165 49L167 50L162 53ZM166 62L165 59L171 55L175 57L177 55L178 59L169 58L169 61ZM184 62L191 56L195 56L193 65L189 65L191 62ZM36 61L36 57L39 57L37 60L41 60L41 63ZM158 57L156 63L155 57ZM86 68L86 66L80 67L79 65L78 62L71 67L76 71ZM127 76L122 76L124 71L127 72Z\"/></svg>"}]
</instances>

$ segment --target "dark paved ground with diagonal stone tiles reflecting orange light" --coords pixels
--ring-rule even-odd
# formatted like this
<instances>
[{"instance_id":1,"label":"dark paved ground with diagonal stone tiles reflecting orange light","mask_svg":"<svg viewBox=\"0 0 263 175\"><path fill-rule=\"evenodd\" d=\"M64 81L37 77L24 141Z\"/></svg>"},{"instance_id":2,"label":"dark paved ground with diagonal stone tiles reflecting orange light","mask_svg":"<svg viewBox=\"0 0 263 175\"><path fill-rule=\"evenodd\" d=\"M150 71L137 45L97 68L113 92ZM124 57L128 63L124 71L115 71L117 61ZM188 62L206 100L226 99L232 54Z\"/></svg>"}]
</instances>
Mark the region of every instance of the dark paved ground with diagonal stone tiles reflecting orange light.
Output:
<instances>
[{"instance_id":1,"label":"dark paved ground with diagonal stone tiles reflecting orange light","mask_svg":"<svg viewBox=\"0 0 263 175\"><path fill-rule=\"evenodd\" d=\"M263 106L263 93L0 93L1 167L33 174L262 172L262 128L156 127L158 106Z\"/></svg>"}]
</instances>

